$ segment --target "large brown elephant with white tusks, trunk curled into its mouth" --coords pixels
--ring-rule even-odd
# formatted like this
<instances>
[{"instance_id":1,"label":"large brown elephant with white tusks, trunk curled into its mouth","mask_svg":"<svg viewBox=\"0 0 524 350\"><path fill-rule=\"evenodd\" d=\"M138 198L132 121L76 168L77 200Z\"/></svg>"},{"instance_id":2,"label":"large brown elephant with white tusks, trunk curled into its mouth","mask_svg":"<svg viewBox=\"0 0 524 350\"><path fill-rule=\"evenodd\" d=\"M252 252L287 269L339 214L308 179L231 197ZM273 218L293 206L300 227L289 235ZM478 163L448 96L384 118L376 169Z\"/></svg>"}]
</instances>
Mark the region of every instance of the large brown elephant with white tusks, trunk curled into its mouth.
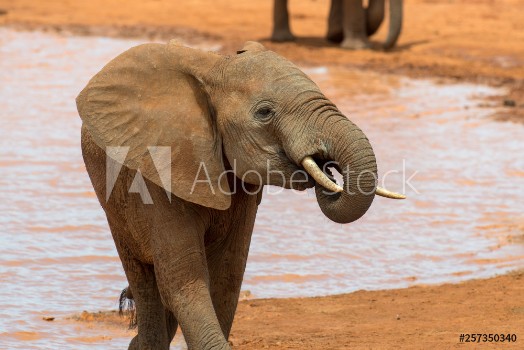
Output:
<instances>
[{"instance_id":1,"label":"large brown elephant with white tusks, trunk curled into its mouth","mask_svg":"<svg viewBox=\"0 0 524 350\"><path fill-rule=\"evenodd\" d=\"M375 194L402 198L376 186L364 133L256 42L231 56L176 41L133 47L76 103L86 170L132 290L123 297L136 307L130 349L168 349L178 325L189 349L230 348L265 185L315 187L338 223L364 215Z\"/></svg>"}]
</instances>

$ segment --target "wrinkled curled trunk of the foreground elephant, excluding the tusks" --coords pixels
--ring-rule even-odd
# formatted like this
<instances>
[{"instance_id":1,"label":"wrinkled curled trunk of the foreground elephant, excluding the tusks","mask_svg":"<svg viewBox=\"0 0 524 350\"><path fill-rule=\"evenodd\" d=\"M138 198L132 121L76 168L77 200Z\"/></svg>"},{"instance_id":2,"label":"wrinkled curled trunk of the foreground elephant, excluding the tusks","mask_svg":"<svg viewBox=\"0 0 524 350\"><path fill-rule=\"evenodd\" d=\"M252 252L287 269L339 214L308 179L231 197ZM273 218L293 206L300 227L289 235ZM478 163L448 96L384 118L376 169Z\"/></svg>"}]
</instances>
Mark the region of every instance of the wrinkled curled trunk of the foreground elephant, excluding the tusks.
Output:
<instances>
[{"instance_id":1,"label":"wrinkled curled trunk of the foreground elephant, excluding the tusks","mask_svg":"<svg viewBox=\"0 0 524 350\"><path fill-rule=\"evenodd\" d=\"M339 171L344 181L343 192L327 189L321 185L322 182L316 181L315 193L320 209L337 223L349 223L364 215L373 202L377 163L364 133L345 117L340 118L344 120L326 126L331 130L323 133L330 135L325 140L326 152L312 158L331 181L333 175L329 167Z\"/></svg>"}]
</instances>

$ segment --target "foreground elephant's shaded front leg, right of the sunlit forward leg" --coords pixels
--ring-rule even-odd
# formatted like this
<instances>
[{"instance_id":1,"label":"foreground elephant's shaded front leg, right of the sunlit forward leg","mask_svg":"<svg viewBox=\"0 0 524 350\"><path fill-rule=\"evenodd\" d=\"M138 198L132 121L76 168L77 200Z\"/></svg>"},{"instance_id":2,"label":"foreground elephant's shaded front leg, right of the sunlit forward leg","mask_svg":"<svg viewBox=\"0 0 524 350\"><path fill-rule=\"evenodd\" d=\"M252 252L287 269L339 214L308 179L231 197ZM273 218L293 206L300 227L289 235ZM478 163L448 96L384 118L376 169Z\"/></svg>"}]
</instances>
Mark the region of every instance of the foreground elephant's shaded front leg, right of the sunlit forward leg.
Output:
<instances>
[{"instance_id":1,"label":"foreground elephant's shaded front leg, right of the sunlit forward leg","mask_svg":"<svg viewBox=\"0 0 524 350\"><path fill-rule=\"evenodd\" d=\"M226 339L235 317L256 211L256 198L235 199L228 213L234 225L225 233L226 238L206 246L211 298Z\"/></svg>"}]
</instances>

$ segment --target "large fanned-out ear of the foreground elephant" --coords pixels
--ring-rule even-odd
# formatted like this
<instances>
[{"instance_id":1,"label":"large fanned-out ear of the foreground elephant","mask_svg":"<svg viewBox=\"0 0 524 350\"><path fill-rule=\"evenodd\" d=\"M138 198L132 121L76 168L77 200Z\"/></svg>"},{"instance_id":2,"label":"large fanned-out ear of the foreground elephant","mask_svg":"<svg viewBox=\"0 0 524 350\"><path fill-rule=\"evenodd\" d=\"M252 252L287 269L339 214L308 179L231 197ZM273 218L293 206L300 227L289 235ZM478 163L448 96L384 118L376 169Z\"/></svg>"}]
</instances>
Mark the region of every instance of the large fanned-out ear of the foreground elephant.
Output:
<instances>
[{"instance_id":1,"label":"large fanned-out ear of the foreground elephant","mask_svg":"<svg viewBox=\"0 0 524 350\"><path fill-rule=\"evenodd\" d=\"M78 112L108 156L179 198L227 209L222 141L204 82L221 59L175 43L134 47L91 79Z\"/></svg>"}]
</instances>

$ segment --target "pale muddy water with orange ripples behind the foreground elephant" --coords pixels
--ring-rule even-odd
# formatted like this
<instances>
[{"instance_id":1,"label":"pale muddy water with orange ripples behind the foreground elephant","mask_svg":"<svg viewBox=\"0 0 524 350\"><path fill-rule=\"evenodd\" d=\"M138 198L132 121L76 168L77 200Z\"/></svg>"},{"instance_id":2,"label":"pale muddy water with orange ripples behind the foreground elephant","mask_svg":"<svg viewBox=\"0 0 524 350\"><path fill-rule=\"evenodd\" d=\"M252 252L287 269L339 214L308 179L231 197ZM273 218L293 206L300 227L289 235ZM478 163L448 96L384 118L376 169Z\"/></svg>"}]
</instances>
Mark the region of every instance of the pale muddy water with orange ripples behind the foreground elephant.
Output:
<instances>
[{"instance_id":1,"label":"pale muddy water with orange ripples behind the foreground elephant","mask_svg":"<svg viewBox=\"0 0 524 350\"><path fill-rule=\"evenodd\" d=\"M137 43L0 30L0 348L118 349L132 336L66 317L116 308L126 285L83 166L74 98ZM337 225L311 192L266 193L244 289L323 295L524 266L524 246L512 244L522 233L507 229L523 219L524 128L478 107L499 91L306 70L369 136L381 181L409 200L377 198L364 218Z\"/></svg>"}]
</instances>

